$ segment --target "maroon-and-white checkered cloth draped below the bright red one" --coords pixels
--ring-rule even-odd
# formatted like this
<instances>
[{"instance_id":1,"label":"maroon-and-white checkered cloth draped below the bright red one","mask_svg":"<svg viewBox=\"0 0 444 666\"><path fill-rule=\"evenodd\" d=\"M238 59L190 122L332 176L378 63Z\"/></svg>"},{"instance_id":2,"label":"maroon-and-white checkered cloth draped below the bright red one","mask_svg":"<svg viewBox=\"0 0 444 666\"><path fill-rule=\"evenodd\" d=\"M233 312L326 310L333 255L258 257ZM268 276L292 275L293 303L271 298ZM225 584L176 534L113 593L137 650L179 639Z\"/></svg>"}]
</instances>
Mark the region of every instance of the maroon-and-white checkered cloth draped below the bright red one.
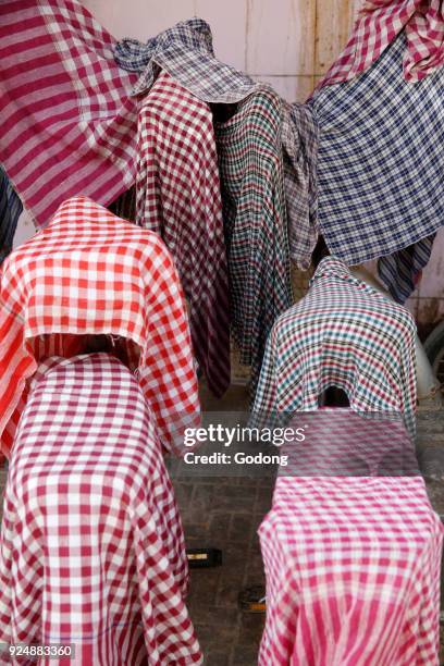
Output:
<instances>
[{"instance_id":1,"label":"maroon-and-white checkered cloth draped below the bright red one","mask_svg":"<svg viewBox=\"0 0 444 666\"><path fill-rule=\"evenodd\" d=\"M107 354L48 359L10 462L0 642L72 644L75 658L58 661L66 666L200 664L187 581L173 488L136 379Z\"/></svg>"}]
</instances>

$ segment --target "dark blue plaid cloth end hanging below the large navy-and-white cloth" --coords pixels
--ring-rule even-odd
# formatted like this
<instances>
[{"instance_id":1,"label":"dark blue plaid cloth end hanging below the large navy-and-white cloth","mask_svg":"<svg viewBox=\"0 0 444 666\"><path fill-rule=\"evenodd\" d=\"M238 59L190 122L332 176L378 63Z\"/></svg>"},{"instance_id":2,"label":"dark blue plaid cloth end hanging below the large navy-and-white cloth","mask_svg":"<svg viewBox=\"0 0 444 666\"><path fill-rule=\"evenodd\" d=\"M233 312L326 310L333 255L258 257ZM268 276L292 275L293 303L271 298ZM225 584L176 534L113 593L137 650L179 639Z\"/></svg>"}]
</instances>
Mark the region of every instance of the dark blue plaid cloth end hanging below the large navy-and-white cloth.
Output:
<instances>
[{"instance_id":1,"label":"dark blue plaid cloth end hanging below the large navy-and-white cloth","mask_svg":"<svg viewBox=\"0 0 444 666\"><path fill-rule=\"evenodd\" d=\"M435 235L378 260L378 273L397 303L405 303L415 291L429 263Z\"/></svg>"}]
</instances>

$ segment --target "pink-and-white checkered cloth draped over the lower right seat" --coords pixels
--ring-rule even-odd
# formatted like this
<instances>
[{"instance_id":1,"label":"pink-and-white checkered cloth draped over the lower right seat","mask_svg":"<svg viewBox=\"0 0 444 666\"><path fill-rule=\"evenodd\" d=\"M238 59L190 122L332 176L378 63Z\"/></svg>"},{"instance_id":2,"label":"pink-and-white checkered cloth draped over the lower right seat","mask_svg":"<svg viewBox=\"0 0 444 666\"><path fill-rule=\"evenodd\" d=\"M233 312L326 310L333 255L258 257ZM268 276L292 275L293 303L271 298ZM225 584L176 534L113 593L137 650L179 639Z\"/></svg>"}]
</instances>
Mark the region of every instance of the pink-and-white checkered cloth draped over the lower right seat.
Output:
<instances>
[{"instance_id":1,"label":"pink-and-white checkered cloth draped over the lower right seat","mask_svg":"<svg viewBox=\"0 0 444 666\"><path fill-rule=\"evenodd\" d=\"M351 448L346 412L321 427ZM261 666L437 666L443 527L420 477L281 477L259 535Z\"/></svg>"}]
</instances>

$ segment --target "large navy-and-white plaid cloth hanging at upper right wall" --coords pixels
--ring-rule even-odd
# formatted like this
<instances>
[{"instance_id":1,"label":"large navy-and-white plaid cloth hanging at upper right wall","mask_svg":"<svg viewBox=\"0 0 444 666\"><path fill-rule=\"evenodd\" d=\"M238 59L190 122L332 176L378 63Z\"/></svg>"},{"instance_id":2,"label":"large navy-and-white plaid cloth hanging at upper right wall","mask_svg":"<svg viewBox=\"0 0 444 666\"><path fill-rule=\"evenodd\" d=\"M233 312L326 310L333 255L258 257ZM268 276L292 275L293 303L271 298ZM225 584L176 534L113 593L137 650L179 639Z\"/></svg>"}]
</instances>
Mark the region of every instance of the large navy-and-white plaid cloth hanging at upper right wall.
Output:
<instances>
[{"instance_id":1,"label":"large navy-and-white plaid cloth hanging at upper right wall","mask_svg":"<svg viewBox=\"0 0 444 666\"><path fill-rule=\"evenodd\" d=\"M320 132L319 227L348 264L391 255L443 224L444 69L407 83L405 48L402 33L367 72L310 100Z\"/></svg>"}]
</instances>

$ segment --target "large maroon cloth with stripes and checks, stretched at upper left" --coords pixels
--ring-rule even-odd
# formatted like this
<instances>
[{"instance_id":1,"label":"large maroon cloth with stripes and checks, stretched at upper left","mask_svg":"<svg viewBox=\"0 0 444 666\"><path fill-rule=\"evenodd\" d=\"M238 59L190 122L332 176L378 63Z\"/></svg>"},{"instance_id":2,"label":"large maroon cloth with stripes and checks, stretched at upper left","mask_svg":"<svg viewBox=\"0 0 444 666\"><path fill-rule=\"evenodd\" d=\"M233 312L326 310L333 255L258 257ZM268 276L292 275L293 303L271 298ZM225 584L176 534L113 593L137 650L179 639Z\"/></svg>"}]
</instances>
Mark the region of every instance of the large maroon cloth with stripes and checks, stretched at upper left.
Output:
<instances>
[{"instance_id":1,"label":"large maroon cloth with stripes and checks, stretched at upper left","mask_svg":"<svg viewBox=\"0 0 444 666\"><path fill-rule=\"evenodd\" d=\"M135 178L137 75L76 0L0 3L0 162L38 226L87 195L107 205Z\"/></svg>"}]
</instances>

